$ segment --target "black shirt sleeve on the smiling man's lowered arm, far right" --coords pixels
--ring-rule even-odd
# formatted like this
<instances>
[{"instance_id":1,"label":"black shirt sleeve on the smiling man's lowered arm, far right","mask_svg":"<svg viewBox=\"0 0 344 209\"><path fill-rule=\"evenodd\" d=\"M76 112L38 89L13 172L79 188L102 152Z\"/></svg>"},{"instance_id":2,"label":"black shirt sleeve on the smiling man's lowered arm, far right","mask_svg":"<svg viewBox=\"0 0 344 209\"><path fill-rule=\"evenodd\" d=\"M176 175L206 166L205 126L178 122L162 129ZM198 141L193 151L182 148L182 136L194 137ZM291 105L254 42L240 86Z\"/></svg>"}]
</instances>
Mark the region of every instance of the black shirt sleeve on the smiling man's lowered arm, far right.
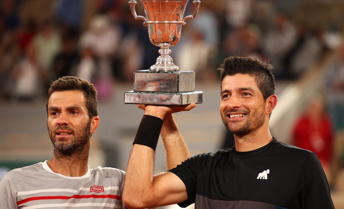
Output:
<instances>
[{"instance_id":1,"label":"black shirt sleeve on the smiling man's lowered arm, far right","mask_svg":"<svg viewBox=\"0 0 344 209\"><path fill-rule=\"evenodd\" d=\"M334 208L329 183L315 153L304 162L299 178L299 199L302 208Z\"/></svg>"}]
</instances>

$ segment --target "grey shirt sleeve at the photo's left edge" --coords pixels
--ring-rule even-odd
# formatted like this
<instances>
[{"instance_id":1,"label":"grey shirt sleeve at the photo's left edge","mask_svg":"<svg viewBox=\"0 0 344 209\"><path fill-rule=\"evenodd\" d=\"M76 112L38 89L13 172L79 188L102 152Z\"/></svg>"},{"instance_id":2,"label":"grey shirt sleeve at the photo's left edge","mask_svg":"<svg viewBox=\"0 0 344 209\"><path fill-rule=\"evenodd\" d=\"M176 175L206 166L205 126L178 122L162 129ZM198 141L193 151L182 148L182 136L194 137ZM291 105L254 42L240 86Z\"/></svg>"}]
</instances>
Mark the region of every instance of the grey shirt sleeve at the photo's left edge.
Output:
<instances>
[{"instance_id":1,"label":"grey shirt sleeve at the photo's left edge","mask_svg":"<svg viewBox=\"0 0 344 209\"><path fill-rule=\"evenodd\" d=\"M0 182L0 208L18 209L17 205L17 192L18 183L20 180L14 181L12 179L15 173L8 172Z\"/></svg>"}]
</instances>

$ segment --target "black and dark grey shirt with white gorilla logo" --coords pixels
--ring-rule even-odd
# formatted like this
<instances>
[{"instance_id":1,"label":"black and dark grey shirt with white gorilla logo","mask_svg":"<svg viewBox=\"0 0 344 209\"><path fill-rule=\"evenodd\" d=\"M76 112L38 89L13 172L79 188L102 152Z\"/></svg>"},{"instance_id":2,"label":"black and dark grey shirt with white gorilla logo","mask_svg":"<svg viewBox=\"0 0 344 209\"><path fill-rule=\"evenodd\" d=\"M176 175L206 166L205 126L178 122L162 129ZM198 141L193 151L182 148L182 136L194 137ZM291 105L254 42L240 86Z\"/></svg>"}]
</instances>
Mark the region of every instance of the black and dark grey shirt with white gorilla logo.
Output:
<instances>
[{"instance_id":1,"label":"black and dark grey shirt with white gorilla logo","mask_svg":"<svg viewBox=\"0 0 344 209\"><path fill-rule=\"evenodd\" d=\"M243 209L334 208L315 153L275 138L249 152L204 153L170 170L185 184L186 207Z\"/></svg>"}]
</instances>

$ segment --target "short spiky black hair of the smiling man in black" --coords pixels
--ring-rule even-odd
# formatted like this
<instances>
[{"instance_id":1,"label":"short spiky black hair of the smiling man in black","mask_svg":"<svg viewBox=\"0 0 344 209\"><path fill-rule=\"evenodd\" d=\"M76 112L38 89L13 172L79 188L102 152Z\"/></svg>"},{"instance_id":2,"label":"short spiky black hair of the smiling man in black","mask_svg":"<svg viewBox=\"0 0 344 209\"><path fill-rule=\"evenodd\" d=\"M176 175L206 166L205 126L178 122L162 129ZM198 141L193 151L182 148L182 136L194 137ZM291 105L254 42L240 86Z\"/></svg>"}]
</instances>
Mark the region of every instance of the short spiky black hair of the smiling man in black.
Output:
<instances>
[{"instance_id":1,"label":"short spiky black hair of the smiling man in black","mask_svg":"<svg viewBox=\"0 0 344 209\"><path fill-rule=\"evenodd\" d=\"M264 100L275 94L275 76L271 72L272 69L272 65L266 61L246 57L228 57L218 68L221 82L226 76L234 76L237 73L249 74L255 77L256 84L263 94Z\"/></svg>"}]
</instances>

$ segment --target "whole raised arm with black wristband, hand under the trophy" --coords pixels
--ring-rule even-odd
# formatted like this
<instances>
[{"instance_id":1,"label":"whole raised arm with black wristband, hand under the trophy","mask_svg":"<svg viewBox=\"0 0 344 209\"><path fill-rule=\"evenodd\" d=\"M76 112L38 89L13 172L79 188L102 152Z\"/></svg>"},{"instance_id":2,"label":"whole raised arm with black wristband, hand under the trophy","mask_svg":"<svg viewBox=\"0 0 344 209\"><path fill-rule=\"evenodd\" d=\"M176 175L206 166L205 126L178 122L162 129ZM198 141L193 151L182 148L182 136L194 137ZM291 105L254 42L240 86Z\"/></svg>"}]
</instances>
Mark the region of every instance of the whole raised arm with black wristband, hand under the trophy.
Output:
<instances>
[{"instance_id":1,"label":"whole raised arm with black wristband, hand under the trophy","mask_svg":"<svg viewBox=\"0 0 344 209\"><path fill-rule=\"evenodd\" d=\"M135 141L137 139L142 141L142 136L144 136L147 137L147 140L145 139L146 142L151 144L152 140L159 138L160 129L166 115L174 112L188 111L195 106L196 104L169 107L146 106L145 115L149 115L149 117L144 116L142 119ZM169 119L168 117L170 116L167 116L166 120L169 123L172 122L173 120L170 120L171 118ZM160 129L157 126L160 126ZM142 130L142 127L149 127L149 131ZM164 127L163 135L173 129ZM166 137L165 135L165 140L168 141L167 138L169 137ZM143 144L146 142L143 142ZM167 144L168 147L173 146L173 143L168 142ZM131 149L122 195L122 200L128 208L159 207L179 203L187 199L186 187L175 174L163 172L153 177L154 149L140 143L134 144ZM169 155L170 152L167 156ZM189 153L186 155L189 156ZM176 161L169 162L168 167L174 166L176 163Z\"/></svg>"}]
</instances>

